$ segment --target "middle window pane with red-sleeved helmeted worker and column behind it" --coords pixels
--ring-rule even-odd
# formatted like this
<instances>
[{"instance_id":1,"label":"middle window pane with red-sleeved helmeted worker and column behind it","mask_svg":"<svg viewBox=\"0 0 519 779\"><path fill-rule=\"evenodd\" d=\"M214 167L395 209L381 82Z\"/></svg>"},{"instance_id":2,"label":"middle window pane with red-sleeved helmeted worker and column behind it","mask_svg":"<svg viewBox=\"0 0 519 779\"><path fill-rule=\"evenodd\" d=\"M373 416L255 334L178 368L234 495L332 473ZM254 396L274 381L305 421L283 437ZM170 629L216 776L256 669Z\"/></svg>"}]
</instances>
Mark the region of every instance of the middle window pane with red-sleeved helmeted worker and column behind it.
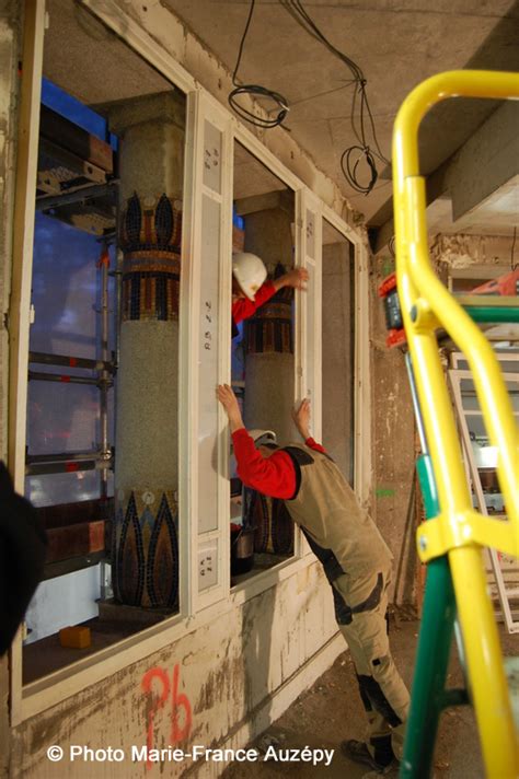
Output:
<instances>
[{"instance_id":1,"label":"middle window pane with red-sleeved helmeted worker and column behind it","mask_svg":"<svg viewBox=\"0 0 519 779\"><path fill-rule=\"evenodd\" d=\"M249 429L274 430L278 441L297 438L293 405L293 289L276 280L293 266L295 197L241 143L234 143L233 252L251 253L265 266L254 302L232 283L232 386ZM231 280L230 280L231 281ZM231 456L232 583L293 554L293 525L277 501L244 490Z\"/></svg>"}]
</instances>

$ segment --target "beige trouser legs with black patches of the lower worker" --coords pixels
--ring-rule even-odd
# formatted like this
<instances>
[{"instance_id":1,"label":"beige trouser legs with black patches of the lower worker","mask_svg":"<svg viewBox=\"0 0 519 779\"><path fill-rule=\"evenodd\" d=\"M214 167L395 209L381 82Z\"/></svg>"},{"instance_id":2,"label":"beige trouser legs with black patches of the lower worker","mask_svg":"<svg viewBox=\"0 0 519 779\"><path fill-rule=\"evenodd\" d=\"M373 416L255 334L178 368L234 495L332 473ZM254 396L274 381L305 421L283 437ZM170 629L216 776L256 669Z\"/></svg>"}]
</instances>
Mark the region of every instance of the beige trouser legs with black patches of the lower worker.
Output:
<instances>
[{"instance_id":1,"label":"beige trouser legs with black patches of the lower worker","mask_svg":"<svg viewBox=\"0 0 519 779\"><path fill-rule=\"evenodd\" d=\"M348 643L367 709L368 746L372 752L373 740L391 734L393 752L400 759L410 694L391 656L385 623L389 572L383 572L383 577L379 604L370 611L354 613L349 625L339 625L339 628ZM351 582L345 574L334 581L334 586L345 603L355 608L372 593L377 578L374 573Z\"/></svg>"}]
</instances>

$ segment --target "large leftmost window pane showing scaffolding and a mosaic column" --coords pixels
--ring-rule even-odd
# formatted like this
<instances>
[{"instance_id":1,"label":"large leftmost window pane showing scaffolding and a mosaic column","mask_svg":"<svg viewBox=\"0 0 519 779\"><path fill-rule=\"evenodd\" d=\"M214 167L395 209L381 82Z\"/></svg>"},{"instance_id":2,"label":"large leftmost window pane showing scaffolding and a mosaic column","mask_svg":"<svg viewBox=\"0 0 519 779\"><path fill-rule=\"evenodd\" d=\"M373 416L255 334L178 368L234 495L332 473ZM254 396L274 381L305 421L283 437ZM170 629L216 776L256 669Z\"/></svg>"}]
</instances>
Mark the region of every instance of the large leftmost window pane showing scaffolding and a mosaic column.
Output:
<instances>
[{"instance_id":1,"label":"large leftmost window pane showing scaffolding and a mosaic column","mask_svg":"<svg viewBox=\"0 0 519 779\"><path fill-rule=\"evenodd\" d=\"M83 655L142 629L141 619L120 620L128 586L109 597L108 556L114 570L129 572L129 590L141 589L140 607L166 597L162 619L178 603L171 408L176 409L186 101L94 16L86 19L64 0L53 8L59 24L50 24L44 40L26 440L26 493L44 519L49 545L46 581L27 615L24 681L77 659L56 651L61 627L89 625L92 644ZM130 334L123 356L124 327ZM159 349L146 348L159 340L166 360L153 358ZM84 359L97 364L78 364ZM161 381L163 364L168 382ZM49 373L60 381L42 375ZM160 403L152 392L135 390L142 383L160 387ZM116 411L128 443L118 452L114 490L114 472L94 465L113 453ZM148 431L153 414L155 427ZM164 466L143 485L139 468L154 454L153 430L165 429L173 442L169 470ZM101 450L95 463L83 466L73 456Z\"/></svg>"}]
</instances>

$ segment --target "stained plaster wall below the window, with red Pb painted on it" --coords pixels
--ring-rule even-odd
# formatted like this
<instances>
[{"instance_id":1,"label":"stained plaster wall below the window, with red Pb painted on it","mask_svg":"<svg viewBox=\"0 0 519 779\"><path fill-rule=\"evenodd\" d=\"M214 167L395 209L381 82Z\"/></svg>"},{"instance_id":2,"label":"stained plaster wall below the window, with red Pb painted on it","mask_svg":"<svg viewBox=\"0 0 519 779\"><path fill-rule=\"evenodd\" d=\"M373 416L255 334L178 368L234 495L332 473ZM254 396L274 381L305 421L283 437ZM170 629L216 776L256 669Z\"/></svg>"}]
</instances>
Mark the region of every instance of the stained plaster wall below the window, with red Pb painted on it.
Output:
<instances>
[{"instance_id":1,"label":"stained plaster wall below the window, with red Pb painted on it","mask_svg":"<svg viewBox=\"0 0 519 779\"><path fill-rule=\"evenodd\" d=\"M163 695L163 676L157 676L152 684L153 696L146 693L142 683L146 686L146 674L155 670L155 674L168 675L171 684L175 665L177 700L185 695L192 711L191 732L177 746L185 751L193 744L216 747L229 739L227 746L235 748L238 740L244 737L243 731L239 734L241 725L258 716L256 728L267 726L269 694L290 679L335 631L330 586L320 567L312 563L175 644L16 728L12 779L181 776L188 763L166 763L163 769L154 765L148 771L146 764L129 759L95 764L64 759L51 764L46 749L59 744L68 754L70 744L85 744L94 749L112 746L129 753L131 744L147 743L150 721L152 745L172 744L175 718L171 695ZM266 710L258 714L262 702ZM182 730L184 724L185 708L181 704L176 725ZM200 761L189 776L208 776L205 771Z\"/></svg>"}]
</instances>

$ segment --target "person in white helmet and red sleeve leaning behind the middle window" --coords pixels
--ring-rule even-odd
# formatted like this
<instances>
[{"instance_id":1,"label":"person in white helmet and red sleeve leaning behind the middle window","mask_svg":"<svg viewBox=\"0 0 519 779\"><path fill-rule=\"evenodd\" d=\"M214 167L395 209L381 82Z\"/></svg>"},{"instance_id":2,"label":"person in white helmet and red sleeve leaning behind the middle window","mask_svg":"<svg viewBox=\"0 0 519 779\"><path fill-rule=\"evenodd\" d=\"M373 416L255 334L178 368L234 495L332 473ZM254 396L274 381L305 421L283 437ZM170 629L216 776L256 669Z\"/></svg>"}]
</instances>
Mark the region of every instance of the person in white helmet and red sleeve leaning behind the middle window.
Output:
<instances>
[{"instance_id":1,"label":"person in white helmet and red sleeve leaning behind the middle window","mask_svg":"<svg viewBox=\"0 0 519 779\"><path fill-rule=\"evenodd\" d=\"M237 252L232 255L232 336L238 335L237 325L256 313L284 287L305 289L308 270L292 268L277 279L267 278L267 269L255 254Z\"/></svg>"}]
</instances>

